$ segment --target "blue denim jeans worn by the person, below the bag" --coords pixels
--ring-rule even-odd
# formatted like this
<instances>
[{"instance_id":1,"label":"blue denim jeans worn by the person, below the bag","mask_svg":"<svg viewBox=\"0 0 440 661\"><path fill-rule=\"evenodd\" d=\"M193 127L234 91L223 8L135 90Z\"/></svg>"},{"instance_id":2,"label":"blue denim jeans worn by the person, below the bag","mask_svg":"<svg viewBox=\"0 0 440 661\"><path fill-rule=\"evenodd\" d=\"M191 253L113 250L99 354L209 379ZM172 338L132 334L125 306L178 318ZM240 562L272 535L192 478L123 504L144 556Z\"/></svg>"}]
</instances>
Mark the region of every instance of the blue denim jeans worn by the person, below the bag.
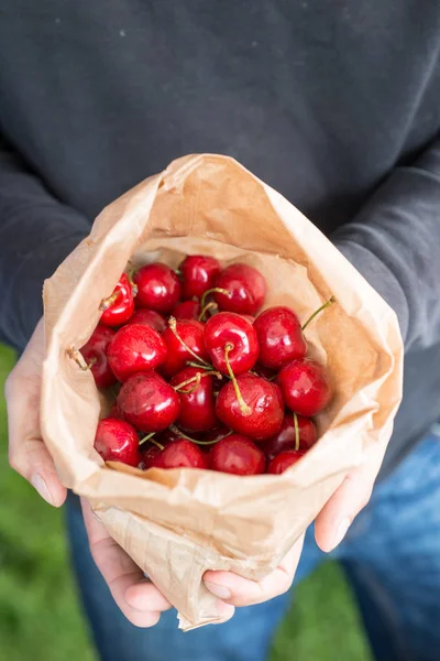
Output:
<instances>
[{"instance_id":1,"label":"blue denim jeans worn by the person, below the bag","mask_svg":"<svg viewBox=\"0 0 440 661\"><path fill-rule=\"evenodd\" d=\"M102 661L267 659L289 595L238 609L226 625L189 633L177 629L173 611L153 629L138 629L113 604L94 564L75 497L68 501L67 523L80 593ZM324 557L308 530L295 583ZM346 572L378 661L440 659L440 436L427 436L375 489L331 557Z\"/></svg>"}]
</instances>

